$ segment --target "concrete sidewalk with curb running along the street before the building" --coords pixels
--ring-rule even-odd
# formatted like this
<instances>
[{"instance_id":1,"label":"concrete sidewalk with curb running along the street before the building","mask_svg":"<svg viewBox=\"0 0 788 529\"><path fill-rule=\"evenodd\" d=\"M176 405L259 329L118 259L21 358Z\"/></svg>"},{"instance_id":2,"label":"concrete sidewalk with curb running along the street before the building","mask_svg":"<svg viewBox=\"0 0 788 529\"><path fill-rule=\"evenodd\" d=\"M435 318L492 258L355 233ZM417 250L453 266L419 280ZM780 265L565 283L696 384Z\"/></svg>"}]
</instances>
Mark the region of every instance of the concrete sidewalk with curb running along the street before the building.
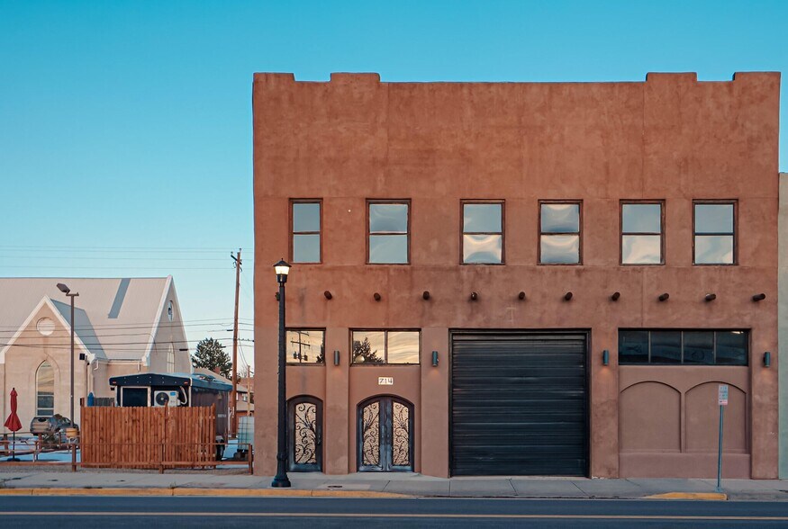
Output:
<instances>
[{"instance_id":1,"label":"concrete sidewalk with curb running along the street before the building","mask_svg":"<svg viewBox=\"0 0 788 529\"><path fill-rule=\"evenodd\" d=\"M0 494L152 494L166 496L394 496L449 498L648 498L788 501L788 480L716 480L476 477L432 478L412 473L355 473L329 476L289 474L291 489L272 489L271 477L205 472L119 472L45 468L4 469ZM710 495L711 494L711 495ZM669 498L669 497L663 497Z\"/></svg>"}]
</instances>

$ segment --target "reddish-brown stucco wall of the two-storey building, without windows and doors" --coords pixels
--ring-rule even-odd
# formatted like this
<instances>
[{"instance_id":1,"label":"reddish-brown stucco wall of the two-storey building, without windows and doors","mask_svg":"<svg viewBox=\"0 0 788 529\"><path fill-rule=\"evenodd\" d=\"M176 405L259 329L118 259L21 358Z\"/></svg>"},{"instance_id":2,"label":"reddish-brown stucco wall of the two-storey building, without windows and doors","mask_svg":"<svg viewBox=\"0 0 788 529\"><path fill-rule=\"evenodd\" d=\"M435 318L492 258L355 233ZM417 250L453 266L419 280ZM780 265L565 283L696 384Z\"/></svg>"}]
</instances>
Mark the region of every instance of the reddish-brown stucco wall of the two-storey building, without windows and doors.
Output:
<instances>
[{"instance_id":1,"label":"reddish-brown stucco wall of the two-storey building, without windows and doors","mask_svg":"<svg viewBox=\"0 0 788 529\"><path fill-rule=\"evenodd\" d=\"M287 394L322 401L322 471L357 471L358 406L391 395L412 404L412 470L448 476L452 331L575 329L587 336L587 475L711 477L728 383L724 475L776 477L779 85L775 73L586 84L257 74L256 472L276 470L271 265L292 256L292 203L309 199L321 204L321 262L294 264L286 325L324 329L327 362L289 364ZM407 264L368 264L376 200L408 203ZM461 264L473 200L503 203L503 264ZM580 203L578 264L539 264L539 204L551 200ZM624 265L621 202L642 200L663 204L664 263ZM734 265L693 264L699 200L735 203ZM351 363L353 329L417 329L420 363ZM747 365L619 365L621 329L744 329Z\"/></svg>"}]
</instances>

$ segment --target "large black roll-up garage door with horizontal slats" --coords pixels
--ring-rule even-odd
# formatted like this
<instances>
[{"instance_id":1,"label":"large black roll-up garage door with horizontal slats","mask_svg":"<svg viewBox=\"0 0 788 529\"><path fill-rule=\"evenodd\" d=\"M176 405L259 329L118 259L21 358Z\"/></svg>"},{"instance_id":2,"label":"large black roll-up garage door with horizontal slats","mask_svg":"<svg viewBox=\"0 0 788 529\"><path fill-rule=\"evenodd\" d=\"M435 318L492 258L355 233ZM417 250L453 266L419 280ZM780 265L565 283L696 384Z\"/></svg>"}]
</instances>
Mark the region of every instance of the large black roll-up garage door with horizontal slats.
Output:
<instances>
[{"instance_id":1,"label":"large black roll-up garage door with horizontal slats","mask_svg":"<svg viewBox=\"0 0 788 529\"><path fill-rule=\"evenodd\" d=\"M585 358L585 333L452 333L452 475L587 475Z\"/></svg>"}]
</instances>

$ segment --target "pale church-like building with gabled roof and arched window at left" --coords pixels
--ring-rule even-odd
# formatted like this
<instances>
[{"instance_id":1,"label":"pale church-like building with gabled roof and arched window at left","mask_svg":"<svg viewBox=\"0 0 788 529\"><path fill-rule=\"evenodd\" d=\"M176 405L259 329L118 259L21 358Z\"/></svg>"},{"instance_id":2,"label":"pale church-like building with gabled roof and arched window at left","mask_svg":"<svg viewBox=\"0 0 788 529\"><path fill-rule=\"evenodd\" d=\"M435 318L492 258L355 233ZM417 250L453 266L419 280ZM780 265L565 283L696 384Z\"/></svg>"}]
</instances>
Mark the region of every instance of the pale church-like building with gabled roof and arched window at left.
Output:
<instances>
[{"instance_id":1,"label":"pale church-like building with gabled roof and arched window at left","mask_svg":"<svg viewBox=\"0 0 788 529\"><path fill-rule=\"evenodd\" d=\"M109 378L136 372L190 372L186 332L172 276L0 278L0 409L19 393L23 431L32 417L70 415L70 299L75 298L74 417L93 392L113 398Z\"/></svg>"}]
</instances>

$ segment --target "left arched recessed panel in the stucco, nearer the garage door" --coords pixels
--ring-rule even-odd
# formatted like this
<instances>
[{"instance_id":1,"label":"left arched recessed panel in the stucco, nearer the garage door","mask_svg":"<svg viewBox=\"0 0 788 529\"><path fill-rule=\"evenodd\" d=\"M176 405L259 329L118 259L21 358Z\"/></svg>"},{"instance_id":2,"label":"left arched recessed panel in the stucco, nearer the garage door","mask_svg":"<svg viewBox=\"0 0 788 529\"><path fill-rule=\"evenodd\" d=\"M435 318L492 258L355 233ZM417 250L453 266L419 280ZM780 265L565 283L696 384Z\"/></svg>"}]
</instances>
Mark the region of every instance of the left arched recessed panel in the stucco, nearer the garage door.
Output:
<instances>
[{"instance_id":1,"label":"left arched recessed panel in the stucco, nearer the garage door","mask_svg":"<svg viewBox=\"0 0 788 529\"><path fill-rule=\"evenodd\" d=\"M681 451L681 394L661 382L640 382L621 391L621 451Z\"/></svg>"}]
</instances>

